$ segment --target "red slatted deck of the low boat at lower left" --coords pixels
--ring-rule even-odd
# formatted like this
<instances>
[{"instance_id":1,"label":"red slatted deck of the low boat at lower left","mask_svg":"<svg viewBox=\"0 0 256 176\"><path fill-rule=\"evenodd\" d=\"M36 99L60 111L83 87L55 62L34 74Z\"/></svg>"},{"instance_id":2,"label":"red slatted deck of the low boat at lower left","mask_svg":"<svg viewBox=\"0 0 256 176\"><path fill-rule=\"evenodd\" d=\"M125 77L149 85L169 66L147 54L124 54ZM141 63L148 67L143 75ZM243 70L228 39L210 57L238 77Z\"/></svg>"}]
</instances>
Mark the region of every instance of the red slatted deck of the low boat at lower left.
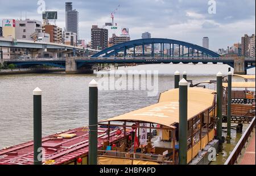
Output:
<instances>
[{"instance_id":1,"label":"red slatted deck of the low boat at lower left","mask_svg":"<svg viewBox=\"0 0 256 176\"><path fill-rule=\"evenodd\" d=\"M107 128L98 128L98 148L108 139ZM127 129L128 130L128 129ZM129 129L126 134L133 130ZM112 132L112 133L111 133ZM76 134L73 138L56 139L56 134L42 138L42 145L47 148L43 154L46 161L55 160L56 165L64 164L89 151L89 131L85 128L76 128L61 134ZM114 130L110 131L110 143L115 143L123 138L116 135ZM33 141L15 145L0 151L0 165L32 165L34 163Z\"/></svg>"}]
</instances>

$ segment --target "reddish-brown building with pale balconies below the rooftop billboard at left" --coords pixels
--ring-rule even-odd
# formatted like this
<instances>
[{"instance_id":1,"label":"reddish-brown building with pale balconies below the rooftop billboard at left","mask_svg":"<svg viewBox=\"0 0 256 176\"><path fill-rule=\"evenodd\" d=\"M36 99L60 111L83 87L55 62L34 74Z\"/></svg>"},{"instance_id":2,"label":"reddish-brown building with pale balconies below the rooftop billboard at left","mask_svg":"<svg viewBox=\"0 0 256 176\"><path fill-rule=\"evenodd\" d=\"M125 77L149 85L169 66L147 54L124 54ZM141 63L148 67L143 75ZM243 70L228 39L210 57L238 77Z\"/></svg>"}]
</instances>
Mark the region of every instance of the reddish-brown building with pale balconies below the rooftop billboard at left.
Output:
<instances>
[{"instance_id":1,"label":"reddish-brown building with pale balconies below the rooftop billboard at left","mask_svg":"<svg viewBox=\"0 0 256 176\"><path fill-rule=\"evenodd\" d=\"M44 25L43 32L50 35L50 42L60 44L62 42L62 29L56 25Z\"/></svg>"}]
</instances>

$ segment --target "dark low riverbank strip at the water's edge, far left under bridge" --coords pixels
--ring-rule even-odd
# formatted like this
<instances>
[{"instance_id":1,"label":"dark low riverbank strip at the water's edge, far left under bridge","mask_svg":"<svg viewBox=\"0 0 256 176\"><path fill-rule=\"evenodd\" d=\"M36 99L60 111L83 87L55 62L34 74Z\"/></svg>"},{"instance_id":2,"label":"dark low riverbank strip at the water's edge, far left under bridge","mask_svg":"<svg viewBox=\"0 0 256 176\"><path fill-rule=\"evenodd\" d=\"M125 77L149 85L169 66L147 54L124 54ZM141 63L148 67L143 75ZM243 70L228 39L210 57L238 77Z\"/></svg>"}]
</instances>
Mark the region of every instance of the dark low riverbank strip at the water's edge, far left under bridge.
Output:
<instances>
[{"instance_id":1,"label":"dark low riverbank strip at the water's edge, far left under bridge","mask_svg":"<svg viewBox=\"0 0 256 176\"><path fill-rule=\"evenodd\" d=\"M16 69L2 69L0 75L14 75L14 74L38 74L38 73L52 73L62 72L64 68L16 68Z\"/></svg>"}]
</instances>

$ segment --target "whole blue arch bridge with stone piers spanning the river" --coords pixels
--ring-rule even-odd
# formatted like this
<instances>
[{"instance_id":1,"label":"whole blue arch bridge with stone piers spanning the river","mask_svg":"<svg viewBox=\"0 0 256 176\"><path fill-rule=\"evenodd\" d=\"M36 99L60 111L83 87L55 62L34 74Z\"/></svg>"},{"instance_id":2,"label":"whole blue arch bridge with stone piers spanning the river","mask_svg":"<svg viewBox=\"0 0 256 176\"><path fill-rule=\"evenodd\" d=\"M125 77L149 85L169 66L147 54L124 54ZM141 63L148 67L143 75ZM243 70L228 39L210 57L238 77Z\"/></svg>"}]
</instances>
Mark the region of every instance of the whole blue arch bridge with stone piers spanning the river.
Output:
<instances>
[{"instance_id":1,"label":"whole blue arch bridge with stone piers spanning the river","mask_svg":"<svg viewBox=\"0 0 256 176\"><path fill-rule=\"evenodd\" d=\"M160 46L160 51L155 47ZM167 53L164 50L167 49ZM159 50L159 49L158 49ZM246 74L246 70L255 67L255 58L221 57L219 54L189 42L167 38L146 38L131 40L102 50L91 57L70 57L55 59L11 60L16 66L47 65L65 68L67 73L92 72L92 67L101 63L224 63L234 68L236 74Z\"/></svg>"}]
</instances>

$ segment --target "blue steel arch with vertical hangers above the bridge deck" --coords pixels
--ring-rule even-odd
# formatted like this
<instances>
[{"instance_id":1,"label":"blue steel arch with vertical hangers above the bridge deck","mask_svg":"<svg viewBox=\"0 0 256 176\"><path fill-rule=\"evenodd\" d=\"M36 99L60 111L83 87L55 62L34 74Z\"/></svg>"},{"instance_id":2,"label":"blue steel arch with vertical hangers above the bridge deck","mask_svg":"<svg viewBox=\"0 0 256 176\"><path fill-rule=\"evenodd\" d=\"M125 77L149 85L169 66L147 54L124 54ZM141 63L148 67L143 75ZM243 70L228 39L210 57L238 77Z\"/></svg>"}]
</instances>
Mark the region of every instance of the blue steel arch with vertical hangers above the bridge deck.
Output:
<instances>
[{"instance_id":1,"label":"blue steel arch with vertical hangers above the bridge deck","mask_svg":"<svg viewBox=\"0 0 256 176\"><path fill-rule=\"evenodd\" d=\"M154 46L155 44L160 44L160 56L164 56L164 44L169 44L170 49L169 53L167 53L170 56L174 56L174 48L175 46L178 46L178 56L179 57L220 57L219 54L203 48L202 46L191 44L189 42L185 41L179 41L179 40L173 40L168 38L143 38L138 40L131 40L127 42L123 42L122 44L117 44L114 46L111 46L105 50L102 50L94 55L92 57L111 57L113 55L117 56L117 54L121 51L123 51L123 55L127 55L127 49L133 48L133 56L135 57L135 47L142 46L142 56L144 57L145 51L144 46L151 45L151 57L155 56ZM185 50L188 52L185 53ZM196 51L196 52L195 52Z\"/></svg>"}]
</instances>

